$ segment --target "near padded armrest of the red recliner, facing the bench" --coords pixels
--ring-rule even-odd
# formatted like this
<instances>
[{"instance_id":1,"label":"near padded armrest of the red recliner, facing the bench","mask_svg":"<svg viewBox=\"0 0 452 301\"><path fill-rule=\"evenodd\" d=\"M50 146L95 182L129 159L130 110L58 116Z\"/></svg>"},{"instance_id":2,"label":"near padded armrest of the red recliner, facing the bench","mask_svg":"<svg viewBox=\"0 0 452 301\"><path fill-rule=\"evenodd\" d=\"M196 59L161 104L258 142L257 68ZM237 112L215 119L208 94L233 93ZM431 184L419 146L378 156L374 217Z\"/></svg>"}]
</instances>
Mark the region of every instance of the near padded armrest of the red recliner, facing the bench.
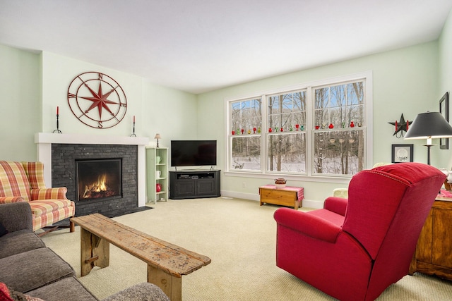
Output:
<instances>
[{"instance_id":1,"label":"near padded armrest of the red recliner, facing the bench","mask_svg":"<svg viewBox=\"0 0 452 301\"><path fill-rule=\"evenodd\" d=\"M334 243L339 233L342 232L342 227L335 225L331 221L294 209L280 208L275 211L273 217L282 226L299 231L311 238L325 240L327 242Z\"/></svg>"}]
</instances>

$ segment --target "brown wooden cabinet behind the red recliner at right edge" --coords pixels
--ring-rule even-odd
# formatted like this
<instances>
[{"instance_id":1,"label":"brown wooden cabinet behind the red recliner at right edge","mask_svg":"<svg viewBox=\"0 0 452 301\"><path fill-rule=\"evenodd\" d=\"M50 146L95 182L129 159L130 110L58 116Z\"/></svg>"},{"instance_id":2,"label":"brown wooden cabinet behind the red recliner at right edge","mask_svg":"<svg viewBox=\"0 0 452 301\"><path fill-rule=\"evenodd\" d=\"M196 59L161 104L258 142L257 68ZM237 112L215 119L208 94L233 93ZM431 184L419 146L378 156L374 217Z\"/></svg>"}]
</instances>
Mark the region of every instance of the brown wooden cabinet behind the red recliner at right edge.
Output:
<instances>
[{"instance_id":1,"label":"brown wooden cabinet behind the red recliner at right edge","mask_svg":"<svg viewBox=\"0 0 452 301\"><path fill-rule=\"evenodd\" d=\"M416 271L452 280L452 198L436 197L424 223L409 274Z\"/></svg>"}]
</instances>

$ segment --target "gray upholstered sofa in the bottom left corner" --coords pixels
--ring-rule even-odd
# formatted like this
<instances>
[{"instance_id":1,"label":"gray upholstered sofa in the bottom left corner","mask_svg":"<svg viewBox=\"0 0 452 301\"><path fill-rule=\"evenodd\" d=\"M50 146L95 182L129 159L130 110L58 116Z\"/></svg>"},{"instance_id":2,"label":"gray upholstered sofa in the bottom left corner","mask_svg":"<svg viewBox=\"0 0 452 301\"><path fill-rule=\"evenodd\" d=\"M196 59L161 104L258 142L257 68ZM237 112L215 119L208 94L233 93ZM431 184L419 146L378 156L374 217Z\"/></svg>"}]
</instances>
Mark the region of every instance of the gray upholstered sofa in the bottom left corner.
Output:
<instances>
[{"instance_id":1,"label":"gray upholstered sofa in the bottom left corner","mask_svg":"<svg viewBox=\"0 0 452 301\"><path fill-rule=\"evenodd\" d=\"M33 233L27 202L0 204L0 224L8 232L0 236L0 283L6 283L19 295L24 293L45 301L98 300L77 280L72 267ZM113 300L169 298L156 285L141 283L104 299Z\"/></svg>"}]
</instances>

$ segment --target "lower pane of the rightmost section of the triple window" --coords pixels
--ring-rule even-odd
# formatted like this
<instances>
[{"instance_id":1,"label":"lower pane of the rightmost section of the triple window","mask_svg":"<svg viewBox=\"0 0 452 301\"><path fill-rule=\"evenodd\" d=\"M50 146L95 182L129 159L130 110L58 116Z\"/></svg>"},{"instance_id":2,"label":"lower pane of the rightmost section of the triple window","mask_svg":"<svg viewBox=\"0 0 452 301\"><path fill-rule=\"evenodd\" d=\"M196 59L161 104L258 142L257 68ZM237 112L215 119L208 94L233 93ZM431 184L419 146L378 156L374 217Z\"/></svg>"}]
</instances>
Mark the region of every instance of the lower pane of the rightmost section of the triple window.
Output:
<instances>
[{"instance_id":1,"label":"lower pane of the rightmost section of the triple window","mask_svg":"<svg viewBox=\"0 0 452 301\"><path fill-rule=\"evenodd\" d=\"M314 132L314 173L354 175L364 168L364 130Z\"/></svg>"}]
</instances>

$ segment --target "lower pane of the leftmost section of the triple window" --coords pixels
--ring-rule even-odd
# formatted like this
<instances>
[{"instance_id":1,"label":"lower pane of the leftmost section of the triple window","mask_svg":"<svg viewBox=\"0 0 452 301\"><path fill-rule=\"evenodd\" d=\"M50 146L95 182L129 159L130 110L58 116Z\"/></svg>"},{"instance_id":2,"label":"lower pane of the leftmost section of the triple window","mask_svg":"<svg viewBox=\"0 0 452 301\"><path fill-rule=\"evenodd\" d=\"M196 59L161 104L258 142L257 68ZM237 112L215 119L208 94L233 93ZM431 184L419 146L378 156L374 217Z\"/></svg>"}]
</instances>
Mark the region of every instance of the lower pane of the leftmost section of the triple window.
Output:
<instances>
[{"instance_id":1,"label":"lower pane of the leftmost section of the triple window","mask_svg":"<svg viewBox=\"0 0 452 301\"><path fill-rule=\"evenodd\" d=\"M261 136L233 136L230 169L261 170Z\"/></svg>"}]
</instances>

